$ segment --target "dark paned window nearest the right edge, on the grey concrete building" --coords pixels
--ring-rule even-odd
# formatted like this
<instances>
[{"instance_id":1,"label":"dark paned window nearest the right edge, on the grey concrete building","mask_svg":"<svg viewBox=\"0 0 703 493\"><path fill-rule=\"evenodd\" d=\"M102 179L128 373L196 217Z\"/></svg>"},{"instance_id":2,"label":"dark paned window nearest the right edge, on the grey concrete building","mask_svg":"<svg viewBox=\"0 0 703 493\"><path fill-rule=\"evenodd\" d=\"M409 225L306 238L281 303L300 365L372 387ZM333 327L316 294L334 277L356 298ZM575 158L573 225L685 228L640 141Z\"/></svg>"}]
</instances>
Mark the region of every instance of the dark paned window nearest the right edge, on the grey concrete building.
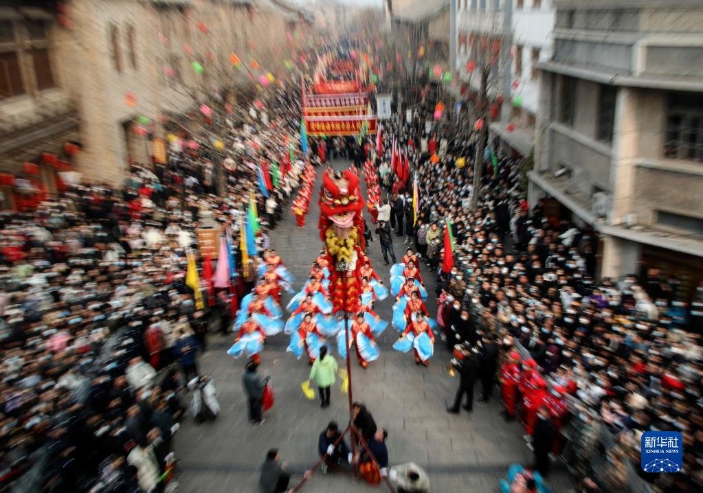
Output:
<instances>
[{"instance_id":1,"label":"dark paned window nearest the right edge, on the grey concrete building","mask_svg":"<svg viewBox=\"0 0 703 493\"><path fill-rule=\"evenodd\" d=\"M693 93L669 96L664 157L703 162L703 96Z\"/></svg>"}]
</instances>

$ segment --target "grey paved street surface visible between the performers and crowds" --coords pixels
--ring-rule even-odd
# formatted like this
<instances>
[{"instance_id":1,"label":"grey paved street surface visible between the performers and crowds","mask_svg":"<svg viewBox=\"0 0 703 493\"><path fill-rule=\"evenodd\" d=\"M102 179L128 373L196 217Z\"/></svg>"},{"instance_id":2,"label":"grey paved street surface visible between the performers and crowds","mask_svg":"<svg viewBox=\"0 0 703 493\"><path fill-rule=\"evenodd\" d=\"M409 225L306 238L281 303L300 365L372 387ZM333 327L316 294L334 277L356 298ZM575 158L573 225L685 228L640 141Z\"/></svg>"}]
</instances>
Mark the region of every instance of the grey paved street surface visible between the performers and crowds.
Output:
<instances>
[{"instance_id":1,"label":"grey paved street surface visible between the performers and crowds","mask_svg":"<svg viewBox=\"0 0 703 493\"><path fill-rule=\"evenodd\" d=\"M337 163L337 168L342 165ZM271 235L273 247L296 277L296 290L302 287L321 246L316 227L317 191L318 188L304 229L295 227L287 209L285 220ZM378 237L374 235L373 240L369 256L387 282L389 273L382 265ZM402 239L398 240L395 253L400 258L404 245ZM423 277L430 291L428 308L434 317L433 276L423 269ZM390 320L391 299L377 303L376 308L384 320ZM510 464L529 464L531 460L522 440L522 428L503 421L497 402L475 405L470 417L465 412L447 414L446 402L453 399L458 383L458 378L451 378L444 369L450 355L438 344L430 367L418 367L411 353L392 350L396 337L396 331L388 327L380 338L380 360L372 362L366 371L354 362L352 367L354 399L366 402L378 426L389 430L391 464L415 461L422 465L430 475L433 492L499 491L498 479ZM302 471L318 458L317 437L328 421L335 419L342 427L347 423L347 395L340 393L340 382L333 388L333 402L328 409L320 409L317 400L305 399L300 383L307 380L310 367L307 361L295 360L285 353L288 336L280 334L269 338L260 367L261 372L271 375L276 404L265 414L262 427L250 426L240 383L245 360L233 360L225 353L232 341L233 337L212 336L209 355L201 359L202 371L211 374L217 385L222 412L214 423L198 425L188 420L176 435L176 455L181 459L180 492L257 492L257 466L271 447L280 449L295 474L293 484L297 484ZM336 352L335 356L342 366ZM479 395L478 386L475 395ZM563 468L557 468L551 479L556 491L567 491ZM349 475L318 473L303 491L368 489Z\"/></svg>"}]
</instances>

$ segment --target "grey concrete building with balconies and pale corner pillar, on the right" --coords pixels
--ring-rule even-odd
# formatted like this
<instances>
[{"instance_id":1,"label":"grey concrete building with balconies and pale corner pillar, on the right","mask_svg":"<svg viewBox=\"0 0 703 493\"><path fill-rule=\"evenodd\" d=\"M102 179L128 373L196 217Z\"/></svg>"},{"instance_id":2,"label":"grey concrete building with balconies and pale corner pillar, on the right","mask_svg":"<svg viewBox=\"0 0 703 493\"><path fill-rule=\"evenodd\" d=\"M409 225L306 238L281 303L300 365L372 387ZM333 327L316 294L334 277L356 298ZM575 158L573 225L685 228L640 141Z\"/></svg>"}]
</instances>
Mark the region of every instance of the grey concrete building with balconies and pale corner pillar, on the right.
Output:
<instances>
[{"instance_id":1,"label":"grey concrete building with balconies and pale corner pillar, on the right","mask_svg":"<svg viewBox=\"0 0 703 493\"><path fill-rule=\"evenodd\" d=\"M600 273L703 279L703 4L553 0L529 202L591 225Z\"/></svg>"}]
</instances>

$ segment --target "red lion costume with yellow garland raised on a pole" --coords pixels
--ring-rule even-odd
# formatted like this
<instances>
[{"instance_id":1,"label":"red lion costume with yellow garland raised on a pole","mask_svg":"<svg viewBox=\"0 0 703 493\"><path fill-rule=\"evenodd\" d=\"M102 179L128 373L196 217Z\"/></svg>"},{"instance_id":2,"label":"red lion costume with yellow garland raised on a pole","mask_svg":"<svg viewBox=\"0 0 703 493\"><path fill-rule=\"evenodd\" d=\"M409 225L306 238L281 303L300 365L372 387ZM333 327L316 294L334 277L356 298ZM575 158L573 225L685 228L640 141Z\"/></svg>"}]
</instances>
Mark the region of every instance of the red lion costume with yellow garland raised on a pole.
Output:
<instances>
[{"instance_id":1,"label":"red lion costume with yellow garland raised on a pole","mask_svg":"<svg viewBox=\"0 0 703 493\"><path fill-rule=\"evenodd\" d=\"M364 200L356 172L328 169L320 190L320 238L330 265L330 296L333 312L359 310L363 240Z\"/></svg>"}]
</instances>

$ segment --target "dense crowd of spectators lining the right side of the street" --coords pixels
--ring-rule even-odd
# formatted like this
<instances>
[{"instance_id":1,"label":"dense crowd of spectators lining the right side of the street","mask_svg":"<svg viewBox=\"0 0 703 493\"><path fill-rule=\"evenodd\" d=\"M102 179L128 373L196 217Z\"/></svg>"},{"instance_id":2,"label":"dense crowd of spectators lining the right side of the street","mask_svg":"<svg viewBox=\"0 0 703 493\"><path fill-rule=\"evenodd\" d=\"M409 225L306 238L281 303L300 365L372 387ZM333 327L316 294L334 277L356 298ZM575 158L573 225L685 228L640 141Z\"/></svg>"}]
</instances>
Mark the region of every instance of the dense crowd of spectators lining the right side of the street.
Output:
<instances>
[{"instance_id":1,"label":"dense crowd of spectators lining the right side of the street","mask_svg":"<svg viewBox=\"0 0 703 493\"><path fill-rule=\"evenodd\" d=\"M548 216L544 200L527 204L520 160L491 150L491 143L472 212L477 133L456 138L437 123L425 129L417 113L401 127L389 122L384 141L395 138L407 150L418 180L411 243L437 272L437 318L447 347L492 334L501 341L501 360L518 349L523 362L535 360L550 388L568 389L572 435L560 440L573 442L571 472L583 491L624 491L640 480L663 491L699 490L703 348L699 312L688 310L679 282L657 268L599 279L595 233ZM459 157L468 164L457 166ZM377 160L382 182L400 192L391 202L400 197L407 216L412 180L403 189L389 160L389 152ZM446 221L455 244L449 273L441 270ZM683 433L683 473L641 472L640 436L647 430ZM614 468L599 467L603 447Z\"/></svg>"}]
</instances>

